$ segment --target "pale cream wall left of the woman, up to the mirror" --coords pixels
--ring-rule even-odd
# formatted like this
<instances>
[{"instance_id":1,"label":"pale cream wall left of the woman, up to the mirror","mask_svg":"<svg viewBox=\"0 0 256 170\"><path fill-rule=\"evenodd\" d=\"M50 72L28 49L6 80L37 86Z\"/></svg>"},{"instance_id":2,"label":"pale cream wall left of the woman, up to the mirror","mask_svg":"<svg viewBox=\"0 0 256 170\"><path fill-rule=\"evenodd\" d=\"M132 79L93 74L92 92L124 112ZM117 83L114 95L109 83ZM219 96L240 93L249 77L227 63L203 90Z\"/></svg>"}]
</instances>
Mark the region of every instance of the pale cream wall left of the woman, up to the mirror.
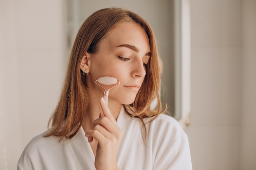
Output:
<instances>
[{"instance_id":1,"label":"pale cream wall left of the woman, up to the mirror","mask_svg":"<svg viewBox=\"0 0 256 170\"><path fill-rule=\"evenodd\" d=\"M62 0L0 0L0 170L47 129L66 54Z\"/></svg>"}]
</instances>

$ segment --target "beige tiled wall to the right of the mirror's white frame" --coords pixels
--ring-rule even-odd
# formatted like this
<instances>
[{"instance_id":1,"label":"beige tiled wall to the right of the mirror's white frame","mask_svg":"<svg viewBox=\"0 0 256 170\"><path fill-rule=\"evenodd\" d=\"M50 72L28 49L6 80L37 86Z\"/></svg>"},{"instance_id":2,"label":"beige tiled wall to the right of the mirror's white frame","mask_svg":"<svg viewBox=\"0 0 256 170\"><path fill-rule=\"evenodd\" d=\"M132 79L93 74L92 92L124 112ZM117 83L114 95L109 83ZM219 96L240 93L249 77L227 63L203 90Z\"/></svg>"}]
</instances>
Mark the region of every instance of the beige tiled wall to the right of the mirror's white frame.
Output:
<instances>
[{"instance_id":1,"label":"beige tiled wall to the right of the mirror's white frame","mask_svg":"<svg viewBox=\"0 0 256 170\"><path fill-rule=\"evenodd\" d=\"M256 169L255 18L255 0L191 0L195 170Z\"/></svg>"}]
</instances>

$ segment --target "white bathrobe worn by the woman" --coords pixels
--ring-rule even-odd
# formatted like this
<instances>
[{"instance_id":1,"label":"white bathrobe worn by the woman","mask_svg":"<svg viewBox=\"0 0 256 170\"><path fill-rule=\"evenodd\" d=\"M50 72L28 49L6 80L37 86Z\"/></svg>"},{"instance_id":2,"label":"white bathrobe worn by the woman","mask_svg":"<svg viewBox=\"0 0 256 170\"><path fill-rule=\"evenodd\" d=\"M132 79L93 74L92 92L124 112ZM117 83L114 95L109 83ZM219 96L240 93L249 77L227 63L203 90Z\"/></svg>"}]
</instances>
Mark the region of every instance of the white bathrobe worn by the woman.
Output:
<instances>
[{"instance_id":1,"label":"white bathrobe worn by the woman","mask_svg":"<svg viewBox=\"0 0 256 170\"><path fill-rule=\"evenodd\" d=\"M192 170L187 135L172 117L161 114L146 124L145 141L141 135L142 122L124 113L124 109L117 124L123 134L117 153L120 170ZM26 146L18 170L96 170L83 128L69 141L43 137L45 133Z\"/></svg>"}]
</instances>

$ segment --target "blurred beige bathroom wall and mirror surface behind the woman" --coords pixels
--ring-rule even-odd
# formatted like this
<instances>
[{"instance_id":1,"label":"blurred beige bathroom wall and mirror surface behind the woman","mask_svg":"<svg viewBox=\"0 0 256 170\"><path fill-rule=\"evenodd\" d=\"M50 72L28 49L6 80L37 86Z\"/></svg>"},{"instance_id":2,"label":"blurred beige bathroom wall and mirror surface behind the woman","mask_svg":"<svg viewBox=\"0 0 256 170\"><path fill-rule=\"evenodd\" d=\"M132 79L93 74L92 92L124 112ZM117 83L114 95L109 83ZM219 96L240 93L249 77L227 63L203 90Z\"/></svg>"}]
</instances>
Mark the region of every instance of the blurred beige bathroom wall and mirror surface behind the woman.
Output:
<instances>
[{"instance_id":1,"label":"blurred beige bathroom wall and mirror surface behind the woman","mask_svg":"<svg viewBox=\"0 0 256 170\"><path fill-rule=\"evenodd\" d=\"M97 9L148 20L164 62L162 99L180 117L177 2L189 2L193 169L256 170L256 0L0 0L0 170L17 169L27 143L47 130L76 25Z\"/></svg>"}]
</instances>

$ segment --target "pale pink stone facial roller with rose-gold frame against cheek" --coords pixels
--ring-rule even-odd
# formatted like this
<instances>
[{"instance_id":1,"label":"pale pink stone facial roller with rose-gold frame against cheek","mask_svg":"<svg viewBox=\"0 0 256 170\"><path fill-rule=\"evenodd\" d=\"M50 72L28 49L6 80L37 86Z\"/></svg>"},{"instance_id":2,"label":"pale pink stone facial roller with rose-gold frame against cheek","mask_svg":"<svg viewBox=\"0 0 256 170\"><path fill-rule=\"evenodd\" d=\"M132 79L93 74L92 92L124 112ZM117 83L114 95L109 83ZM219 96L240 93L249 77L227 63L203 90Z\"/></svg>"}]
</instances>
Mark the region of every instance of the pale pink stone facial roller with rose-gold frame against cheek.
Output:
<instances>
[{"instance_id":1,"label":"pale pink stone facial roller with rose-gold frame against cheek","mask_svg":"<svg viewBox=\"0 0 256 170\"><path fill-rule=\"evenodd\" d=\"M114 88L115 86L119 85L120 82L115 78L115 77L110 77L110 76L104 76L104 77L99 77L99 79L97 79L95 81L95 83L100 86L101 88L104 89L104 93L103 93L103 98L106 102L106 104L108 104L108 92L111 88ZM100 84L103 85L114 85L111 88L109 88L108 90L106 90L104 87L102 87Z\"/></svg>"}]
</instances>

